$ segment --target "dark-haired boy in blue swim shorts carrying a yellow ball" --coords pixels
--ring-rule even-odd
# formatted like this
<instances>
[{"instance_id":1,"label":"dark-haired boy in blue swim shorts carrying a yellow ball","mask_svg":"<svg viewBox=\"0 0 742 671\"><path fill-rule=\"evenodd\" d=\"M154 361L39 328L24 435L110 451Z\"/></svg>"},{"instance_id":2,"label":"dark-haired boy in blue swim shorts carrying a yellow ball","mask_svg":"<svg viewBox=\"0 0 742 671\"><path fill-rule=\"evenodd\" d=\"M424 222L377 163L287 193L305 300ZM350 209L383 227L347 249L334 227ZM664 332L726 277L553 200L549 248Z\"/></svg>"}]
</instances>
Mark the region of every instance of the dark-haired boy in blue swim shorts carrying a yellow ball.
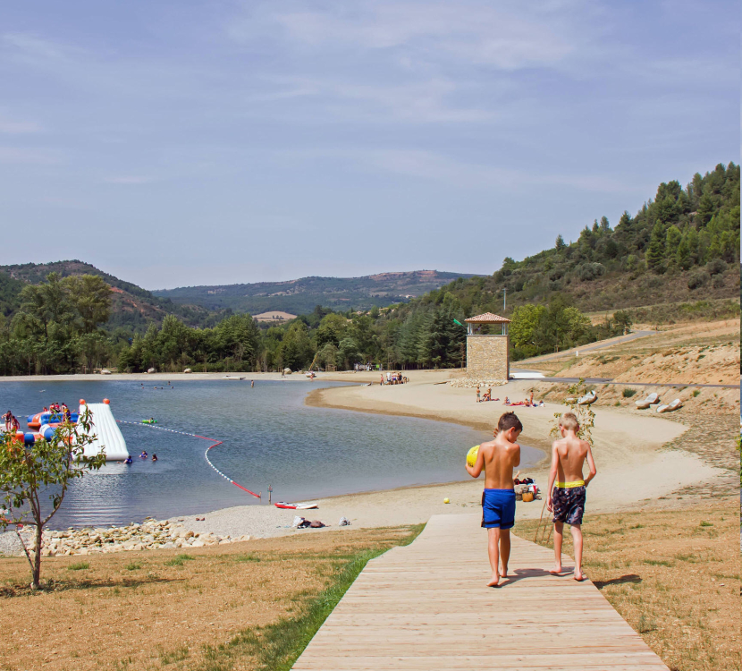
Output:
<instances>
[{"instance_id":1,"label":"dark-haired boy in blue swim shorts carrying a yellow ball","mask_svg":"<svg viewBox=\"0 0 742 671\"><path fill-rule=\"evenodd\" d=\"M520 465L520 446L515 441L522 430L515 412L505 412L493 431L494 439L479 446L474 466L466 464L472 478L485 471L482 527L487 530L487 552L492 566L487 587L500 587L500 579L508 577L510 529L515 524L513 469Z\"/></svg>"}]
</instances>

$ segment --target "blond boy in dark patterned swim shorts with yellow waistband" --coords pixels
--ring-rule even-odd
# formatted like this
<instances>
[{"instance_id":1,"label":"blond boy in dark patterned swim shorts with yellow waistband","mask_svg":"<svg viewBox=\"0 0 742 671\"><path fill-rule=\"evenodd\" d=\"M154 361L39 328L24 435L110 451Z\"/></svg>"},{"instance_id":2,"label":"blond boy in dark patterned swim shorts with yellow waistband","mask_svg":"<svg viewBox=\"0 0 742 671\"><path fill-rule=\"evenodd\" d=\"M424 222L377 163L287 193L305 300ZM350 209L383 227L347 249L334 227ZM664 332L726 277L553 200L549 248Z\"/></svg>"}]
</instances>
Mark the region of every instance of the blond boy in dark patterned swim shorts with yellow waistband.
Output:
<instances>
[{"instance_id":1,"label":"blond boy in dark patterned swim shorts with yellow waistband","mask_svg":"<svg viewBox=\"0 0 742 671\"><path fill-rule=\"evenodd\" d=\"M582 573L582 516L585 514L586 487L597 470L590 443L578 438L578 418L573 412L565 412L559 420L561 439L552 445L552 470L546 488L546 507L554 514L554 567L552 575L561 573L561 544L564 539L564 523L572 532L575 545L575 580L585 580ZM590 474L583 479L584 463ZM554 482L556 480L556 482Z\"/></svg>"}]
</instances>

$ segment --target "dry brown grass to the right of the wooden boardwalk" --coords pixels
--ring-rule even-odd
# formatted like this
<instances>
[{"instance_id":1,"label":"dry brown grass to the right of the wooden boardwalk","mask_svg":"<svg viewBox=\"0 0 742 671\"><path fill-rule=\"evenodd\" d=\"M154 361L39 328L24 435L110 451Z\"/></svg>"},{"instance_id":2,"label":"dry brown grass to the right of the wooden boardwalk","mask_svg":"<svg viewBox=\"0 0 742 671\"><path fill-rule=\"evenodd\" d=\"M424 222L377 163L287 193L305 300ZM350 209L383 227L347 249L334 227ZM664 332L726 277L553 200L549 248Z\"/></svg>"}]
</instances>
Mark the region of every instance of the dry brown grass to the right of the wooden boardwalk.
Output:
<instances>
[{"instance_id":1,"label":"dry brown grass to the right of the wooden boardwalk","mask_svg":"<svg viewBox=\"0 0 742 671\"><path fill-rule=\"evenodd\" d=\"M516 532L533 540L535 525ZM588 514L583 531L588 577L670 669L742 668L737 497Z\"/></svg>"}]
</instances>

